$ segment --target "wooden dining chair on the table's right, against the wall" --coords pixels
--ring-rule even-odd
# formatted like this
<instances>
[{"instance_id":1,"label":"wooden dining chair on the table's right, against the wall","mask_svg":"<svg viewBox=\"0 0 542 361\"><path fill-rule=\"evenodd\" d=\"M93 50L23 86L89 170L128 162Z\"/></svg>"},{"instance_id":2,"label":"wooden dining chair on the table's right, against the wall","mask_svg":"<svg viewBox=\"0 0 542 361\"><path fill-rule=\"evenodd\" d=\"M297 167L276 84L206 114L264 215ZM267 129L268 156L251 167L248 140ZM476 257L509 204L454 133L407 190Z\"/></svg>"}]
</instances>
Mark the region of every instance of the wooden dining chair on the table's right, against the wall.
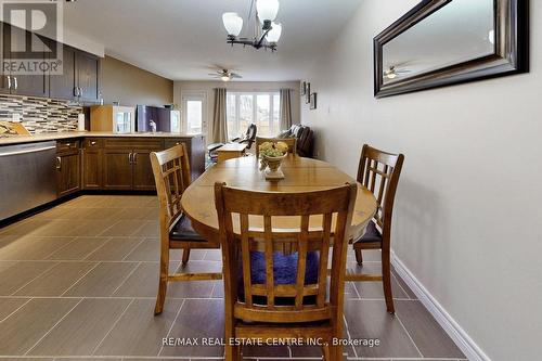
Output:
<instances>
[{"instance_id":1,"label":"wooden dining chair on the table's right, against the wall","mask_svg":"<svg viewBox=\"0 0 542 361\"><path fill-rule=\"evenodd\" d=\"M386 153L367 144L363 145L358 182L375 195L377 209L373 220L367 224L365 234L353 241L353 249L359 266L363 266L363 249L380 249L382 274L347 273L347 281L382 281L389 313L395 313L390 271L391 216L403 162L402 154Z\"/></svg>"}]
</instances>

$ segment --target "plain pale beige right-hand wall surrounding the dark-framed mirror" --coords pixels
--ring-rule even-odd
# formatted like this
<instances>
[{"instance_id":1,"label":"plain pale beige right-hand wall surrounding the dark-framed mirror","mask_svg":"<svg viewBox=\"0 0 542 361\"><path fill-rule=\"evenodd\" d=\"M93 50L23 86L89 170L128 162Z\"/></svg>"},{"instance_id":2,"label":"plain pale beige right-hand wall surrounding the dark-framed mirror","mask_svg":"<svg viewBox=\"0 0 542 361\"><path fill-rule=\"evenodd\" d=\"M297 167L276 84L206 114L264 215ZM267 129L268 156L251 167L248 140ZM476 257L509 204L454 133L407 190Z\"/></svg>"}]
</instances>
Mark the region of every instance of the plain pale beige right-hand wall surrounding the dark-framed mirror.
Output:
<instances>
[{"instance_id":1,"label":"plain pale beige right-hand wall surrounding the dark-framed mirror","mask_svg":"<svg viewBox=\"0 0 542 361\"><path fill-rule=\"evenodd\" d=\"M363 143L405 154L397 256L491 360L539 360L542 2L530 74L377 100L373 37L418 2L361 2L307 76L319 108L302 123L352 176Z\"/></svg>"}]
</instances>

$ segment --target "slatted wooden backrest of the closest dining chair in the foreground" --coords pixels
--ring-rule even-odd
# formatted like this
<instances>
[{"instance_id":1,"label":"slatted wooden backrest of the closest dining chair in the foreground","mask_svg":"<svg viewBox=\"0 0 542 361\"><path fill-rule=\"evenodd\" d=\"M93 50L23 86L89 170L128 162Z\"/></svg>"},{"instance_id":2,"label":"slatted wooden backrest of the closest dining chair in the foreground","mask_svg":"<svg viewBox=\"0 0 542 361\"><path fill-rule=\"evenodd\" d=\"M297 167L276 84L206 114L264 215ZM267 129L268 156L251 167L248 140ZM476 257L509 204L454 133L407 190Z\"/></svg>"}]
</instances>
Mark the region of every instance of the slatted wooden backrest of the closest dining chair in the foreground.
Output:
<instances>
[{"instance_id":1,"label":"slatted wooden backrest of the closest dining chair in the foreground","mask_svg":"<svg viewBox=\"0 0 542 361\"><path fill-rule=\"evenodd\" d=\"M235 317L255 322L310 322L330 320L333 310L341 308L344 274L346 263L347 224L350 224L353 203L356 202L357 185L348 184L335 190L310 193L266 193L246 192L227 188L217 183L217 210L219 214L222 235L222 247L233 246L241 248L243 265L244 302L235 296ZM332 283L330 302L326 302L327 263L332 234L332 217L337 215L335 243L332 261ZM240 233L233 232L232 216L240 217ZM263 217L263 231L250 231L248 215ZM309 230L309 217L324 215L320 230ZM272 218L278 216L300 216L299 231L278 233L273 232ZM292 244L296 249L297 270L295 284L275 285L273 273L273 253L276 243ZM266 283L251 283L250 252L263 248L266 260ZM319 252L318 281L315 284L305 284L308 252ZM228 250L225 250L228 252ZM235 254L235 253L234 253ZM235 284L237 267L234 262L223 259L225 286ZM231 293L234 296L234 293ZM254 296L266 297L266 305L255 304ZM304 305L305 296L315 296L314 305ZM227 298L229 295L225 296ZM292 297L293 306L275 305L275 297Z\"/></svg>"}]
</instances>

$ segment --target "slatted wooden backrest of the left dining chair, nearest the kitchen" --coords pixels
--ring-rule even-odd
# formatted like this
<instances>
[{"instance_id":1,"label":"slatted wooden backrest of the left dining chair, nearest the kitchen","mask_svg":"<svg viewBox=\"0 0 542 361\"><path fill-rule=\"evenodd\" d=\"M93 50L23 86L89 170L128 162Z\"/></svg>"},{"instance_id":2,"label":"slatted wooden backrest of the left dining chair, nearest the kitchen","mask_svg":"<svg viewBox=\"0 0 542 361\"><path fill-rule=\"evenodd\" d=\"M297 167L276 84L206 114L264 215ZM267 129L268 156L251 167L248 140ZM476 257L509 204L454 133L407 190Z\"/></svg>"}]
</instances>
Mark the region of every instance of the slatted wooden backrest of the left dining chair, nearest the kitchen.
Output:
<instances>
[{"instance_id":1,"label":"slatted wooden backrest of the left dining chair, nearest the kitchen","mask_svg":"<svg viewBox=\"0 0 542 361\"><path fill-rule=\"evenodd\" d=\"M182 214L182 193L191 183L185 145L181 143L164 152L151 153L151 164L160 203L160 221L169 229Z\"/></svg>"}]
</instances>

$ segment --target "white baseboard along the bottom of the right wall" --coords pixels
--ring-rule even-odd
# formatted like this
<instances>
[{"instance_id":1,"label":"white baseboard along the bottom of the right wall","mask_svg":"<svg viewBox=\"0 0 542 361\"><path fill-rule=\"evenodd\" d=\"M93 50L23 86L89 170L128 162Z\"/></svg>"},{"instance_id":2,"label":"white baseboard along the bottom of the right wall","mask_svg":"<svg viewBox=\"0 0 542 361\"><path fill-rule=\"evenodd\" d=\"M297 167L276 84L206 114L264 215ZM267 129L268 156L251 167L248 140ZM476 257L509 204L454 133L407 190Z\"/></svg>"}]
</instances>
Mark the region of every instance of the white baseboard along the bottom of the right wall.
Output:
<instances>
[{"instance_id":1,"label":"white baseboard along the bottom of the right wall","mask_svg":"<svg viewBox=\"0 0 542 361\"><path fill-rule=\"evenodd\" d=\"M482 349L468 336L457 322L448 313L444 308L431 296L424 285L412 274L404 263L391 252L391 265L397 273L414 292L420 301L433 314L435 320L444 328L457 347L470 361L491 361Z\"/></svg>"}]
</instances>

